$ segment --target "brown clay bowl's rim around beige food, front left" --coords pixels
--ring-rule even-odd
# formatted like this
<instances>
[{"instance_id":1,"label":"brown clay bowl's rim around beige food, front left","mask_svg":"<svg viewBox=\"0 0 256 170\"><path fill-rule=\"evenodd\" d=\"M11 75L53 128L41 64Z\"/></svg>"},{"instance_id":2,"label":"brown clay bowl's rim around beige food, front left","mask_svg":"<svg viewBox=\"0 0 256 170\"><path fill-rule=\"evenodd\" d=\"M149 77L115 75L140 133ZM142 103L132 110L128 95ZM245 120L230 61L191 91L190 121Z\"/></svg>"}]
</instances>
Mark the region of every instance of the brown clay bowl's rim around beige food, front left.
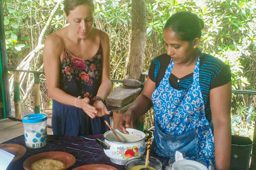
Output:
<instances>
[{"instance_id":1,"label":"brown clay bowl's rim around beige food, front left","mask_svg":"<svg viewBox=\"0 0 256 170\"><path fill-rule=\"evenodd\" d=\"M59 170L68 169L76 163L76 158L73 155L68 154L67 152L52 151L30 156L25 160L25 162L23 162L23 168L26 170L31 170L31 165L37 160L41 159L55 159L61 161L65 164L65 167Z\"/></svg>"}]
</instances>

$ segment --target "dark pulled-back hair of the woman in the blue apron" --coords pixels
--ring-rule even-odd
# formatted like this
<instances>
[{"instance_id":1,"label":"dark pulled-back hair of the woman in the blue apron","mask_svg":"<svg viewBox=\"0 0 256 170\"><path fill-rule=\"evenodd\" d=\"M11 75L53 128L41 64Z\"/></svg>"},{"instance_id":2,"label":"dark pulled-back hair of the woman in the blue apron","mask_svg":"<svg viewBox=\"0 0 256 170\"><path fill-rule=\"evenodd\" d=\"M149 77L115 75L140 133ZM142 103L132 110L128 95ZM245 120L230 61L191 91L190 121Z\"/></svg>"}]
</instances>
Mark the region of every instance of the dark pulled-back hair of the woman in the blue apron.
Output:
<instances>
[{"instance_id":1,"label":"dark pulled-back hair of the woman in the blue apron","mask_svg":"<svg viewBox=\"0 0 256 170\"><path fill-rule=\"evenodd\" d=\"M182 11L173 14L166 22L164 30L168 28L178 33L183 41L193 41L201 38L204 21L194 13Z\"/></svg>"}]
</instances>

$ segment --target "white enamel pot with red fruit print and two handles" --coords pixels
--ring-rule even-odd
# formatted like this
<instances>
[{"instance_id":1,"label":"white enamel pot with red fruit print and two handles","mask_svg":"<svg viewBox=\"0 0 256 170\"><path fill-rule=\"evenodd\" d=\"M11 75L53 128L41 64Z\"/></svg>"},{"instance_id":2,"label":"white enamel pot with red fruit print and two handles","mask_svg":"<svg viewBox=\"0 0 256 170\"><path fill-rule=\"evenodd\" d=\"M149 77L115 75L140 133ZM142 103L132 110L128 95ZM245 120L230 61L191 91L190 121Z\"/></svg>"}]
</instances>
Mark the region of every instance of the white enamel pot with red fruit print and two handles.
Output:
<instances>
[{"instance_id":1,"label":"white enamel pot with red fruit print and two handles","mask_svg":"<svg viewBox=\"0 0 256 170\"><path fill-rule=\"evenodd\" d=\"M97 139L97 143L104 148L104 152L111 162L118 165L124 165L127 158L143 155L146 150L145 141L148 141L152 136L152 133L147 130L145 130L145 133L148 133L147 137L142 131L131 128L126 130L129 134L114 129L123 142L119 142L110 130L104 133L104 141Z\"/></svg>"}]
</instances>

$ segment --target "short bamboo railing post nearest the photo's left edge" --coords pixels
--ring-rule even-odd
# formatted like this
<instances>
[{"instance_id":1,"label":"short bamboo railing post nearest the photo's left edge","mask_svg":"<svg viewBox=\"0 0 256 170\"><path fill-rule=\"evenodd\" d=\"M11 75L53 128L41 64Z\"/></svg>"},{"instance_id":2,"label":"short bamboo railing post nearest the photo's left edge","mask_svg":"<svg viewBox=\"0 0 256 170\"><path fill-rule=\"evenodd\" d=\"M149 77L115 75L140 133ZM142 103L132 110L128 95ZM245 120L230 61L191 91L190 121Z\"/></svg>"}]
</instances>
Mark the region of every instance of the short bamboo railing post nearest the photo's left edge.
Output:
<instances>
[{"instance_id":1,"label":"short bamboo railing post nearest the photo's left edge","mask_svg":"<svg viewBox=\"0 0 256 170\"><path fill-rule=\"evenodd\" d=\"M14 92L14 107L15 107L15 118L21 119L21 105L20 105L20 73L13 72L13 92Z\"/></svg>"}]
</instances>

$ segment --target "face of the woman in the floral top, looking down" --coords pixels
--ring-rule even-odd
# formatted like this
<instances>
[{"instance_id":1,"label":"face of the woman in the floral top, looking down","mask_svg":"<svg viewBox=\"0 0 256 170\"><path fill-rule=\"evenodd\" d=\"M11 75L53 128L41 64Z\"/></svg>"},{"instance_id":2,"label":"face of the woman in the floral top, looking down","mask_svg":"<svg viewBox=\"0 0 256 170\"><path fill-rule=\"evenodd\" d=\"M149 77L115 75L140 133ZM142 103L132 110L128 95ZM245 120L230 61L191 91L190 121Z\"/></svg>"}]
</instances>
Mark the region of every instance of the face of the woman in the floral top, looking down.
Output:
<instances>
[{"instance_id":1,"label":"face of the woman in the floral top, looking down","mask_svg":"<svg viewBox=\"0 0 256 170\"><path fill-rule=\"evenodd\" d=\"M67 19L71 30L76 31L79 38L86 38L90 35L93 26L93 8L89 5L78 5L69 12Z\"/></svg>"}]
</instances>

